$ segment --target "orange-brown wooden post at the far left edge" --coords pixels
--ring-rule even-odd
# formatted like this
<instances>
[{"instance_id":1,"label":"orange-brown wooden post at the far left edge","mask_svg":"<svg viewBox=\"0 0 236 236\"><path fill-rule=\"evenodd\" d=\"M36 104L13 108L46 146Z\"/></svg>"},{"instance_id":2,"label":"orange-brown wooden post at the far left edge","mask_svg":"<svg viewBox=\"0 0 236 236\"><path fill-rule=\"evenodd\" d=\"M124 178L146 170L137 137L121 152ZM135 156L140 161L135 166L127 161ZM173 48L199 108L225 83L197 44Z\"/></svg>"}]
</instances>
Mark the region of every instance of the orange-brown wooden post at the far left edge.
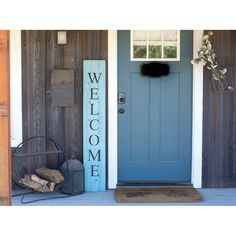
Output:
<instances>
[{"instance_id":1,"label":"orange-brown wooden post at the far left edge","mask_svg":"<svg viewBox=\"0 0 236 236\"><path fill-rule=\"evenodd\" d=\"M11 205L9 31L0 30L0 206Z\"/></svg>"}]
</instances>

